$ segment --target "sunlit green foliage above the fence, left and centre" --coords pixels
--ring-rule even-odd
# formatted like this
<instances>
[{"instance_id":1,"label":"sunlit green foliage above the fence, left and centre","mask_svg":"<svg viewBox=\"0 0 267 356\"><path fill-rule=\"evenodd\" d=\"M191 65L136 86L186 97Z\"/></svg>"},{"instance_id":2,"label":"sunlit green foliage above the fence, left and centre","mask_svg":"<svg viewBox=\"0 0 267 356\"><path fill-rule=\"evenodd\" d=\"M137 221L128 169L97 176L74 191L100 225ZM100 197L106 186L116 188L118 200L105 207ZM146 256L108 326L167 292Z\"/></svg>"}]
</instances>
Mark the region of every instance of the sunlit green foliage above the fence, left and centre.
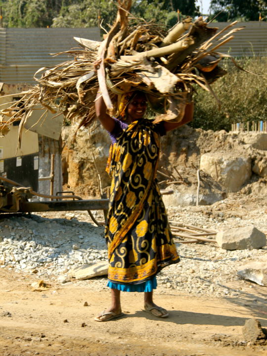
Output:
<instances>
[{"instance_id":1,"label":"sunlit green foliage above the fence, left and centre","mask_svg":"<svg viewBox=\"0 0 267 356\"><path fill-rule=\"evenodd\" d=\"M0 0L3 27L103 27L112 24L117 14L116 0ZM195 0L133 0L131 13L145 21L172 27L177 10L195 16ZM108 30L108 28L106 28Z\"/></svg>"}]
</instances>

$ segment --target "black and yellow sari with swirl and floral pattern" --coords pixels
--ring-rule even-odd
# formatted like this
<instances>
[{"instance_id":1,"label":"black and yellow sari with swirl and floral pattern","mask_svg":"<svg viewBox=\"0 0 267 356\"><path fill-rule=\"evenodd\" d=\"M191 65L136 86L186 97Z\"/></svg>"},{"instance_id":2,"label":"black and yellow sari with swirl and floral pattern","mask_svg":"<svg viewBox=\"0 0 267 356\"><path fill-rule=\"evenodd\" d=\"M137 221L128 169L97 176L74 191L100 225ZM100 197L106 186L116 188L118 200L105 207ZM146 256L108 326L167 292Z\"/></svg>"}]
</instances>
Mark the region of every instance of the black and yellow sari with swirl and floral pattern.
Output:
<instances>
[{"instance_id":1,"label":"black and yellow sari with swirl and floral pattern","mask_svg":"<svg viewBox=\"0 0 267 356\"><path fill-rule=\"evenodd\" d=\"M179 261L156 182L156 125L135 121L110 149L112 177L105 238L111 282L139 284Z\"/></svg>"}]
</instances>

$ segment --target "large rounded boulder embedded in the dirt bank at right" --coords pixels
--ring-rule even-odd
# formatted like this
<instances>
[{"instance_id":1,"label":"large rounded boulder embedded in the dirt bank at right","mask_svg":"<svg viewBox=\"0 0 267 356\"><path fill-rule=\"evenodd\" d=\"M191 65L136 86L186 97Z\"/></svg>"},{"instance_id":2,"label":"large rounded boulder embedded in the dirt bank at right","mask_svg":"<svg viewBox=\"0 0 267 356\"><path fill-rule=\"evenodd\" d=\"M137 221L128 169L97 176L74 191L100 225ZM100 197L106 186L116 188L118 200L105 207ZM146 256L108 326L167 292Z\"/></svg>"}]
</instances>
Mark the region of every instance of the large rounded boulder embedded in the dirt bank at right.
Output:
<instances>
[{"instance_id":1,"label":"large rounded boulder embedded in the dirt bank at right","mask_svg":"<svg viewBox=\"0 0 267 356\"><path fill-rule=\"evenodd\" d=\"M201 156L200 169L221 183L227 192L236 192L251 177L251 158L209 152Z\"/></svg>"}]
</instances>

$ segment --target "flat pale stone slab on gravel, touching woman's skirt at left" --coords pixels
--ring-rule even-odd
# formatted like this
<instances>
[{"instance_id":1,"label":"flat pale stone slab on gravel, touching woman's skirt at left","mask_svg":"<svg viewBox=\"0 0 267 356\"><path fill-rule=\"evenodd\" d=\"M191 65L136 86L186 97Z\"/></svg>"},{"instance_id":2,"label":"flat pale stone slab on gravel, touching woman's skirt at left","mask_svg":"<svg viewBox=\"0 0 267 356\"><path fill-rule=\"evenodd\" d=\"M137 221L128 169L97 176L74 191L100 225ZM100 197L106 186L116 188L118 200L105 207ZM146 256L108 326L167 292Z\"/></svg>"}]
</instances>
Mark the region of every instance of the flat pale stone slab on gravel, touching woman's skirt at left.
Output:
<instances>
[{"instance_id":1,"label":"flat pale stone slab on gravel, touching woman's skirt at left","mask_svg":"<svg viewBox=\"0 0 267 356\"><path fill-rule=\"evenodd\" d=\"M99 262L93 265L83 265L73 268L69 272L70 277L78 280L89 279L108 274L108 262Z\"/></svg>"}]
</instances>

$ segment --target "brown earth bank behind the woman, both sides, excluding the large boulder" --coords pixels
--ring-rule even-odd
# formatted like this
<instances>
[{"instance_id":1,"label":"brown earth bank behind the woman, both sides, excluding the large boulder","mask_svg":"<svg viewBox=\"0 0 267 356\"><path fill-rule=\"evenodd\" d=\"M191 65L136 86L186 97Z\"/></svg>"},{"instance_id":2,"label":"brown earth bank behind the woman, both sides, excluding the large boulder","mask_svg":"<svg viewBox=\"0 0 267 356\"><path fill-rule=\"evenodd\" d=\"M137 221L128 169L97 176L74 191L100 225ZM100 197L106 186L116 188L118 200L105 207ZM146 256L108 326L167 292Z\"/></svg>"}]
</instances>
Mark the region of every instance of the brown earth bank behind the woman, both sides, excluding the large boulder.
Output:
<instances>
[{"instance_id":1,"label":"brown earth bank behind the woman, both sides, excluding the large boulder","mask_svg":"<svg viewBox=\"0 0 267 356\"><path fill-rule=\"evenodd\" d=\"M110 137L101 127L91 134L88 130L78 131L65 127L62 134L64 148L62 153L64 189L71 189L83 198L99 196L99 186L108 193L110 178L105 172L109 153ZM241 186L242 194L266 194L266 177L255 174L257 162L265 162L267 155L264 138L267 134L226 133L183 126L162 137L158 181L160 188L172 188L174 205L195 205L199 184L198 201L210 205L226 197L227 186L220 177L200 171L201 156L206 153L217 157L242 156L250 162L251 178ZM253 172L254 171L254 172ZM263 169L261 168L261 172ZM218 172L217 172L218 175ZM238 176L237 176L238 179ZM200 180L200 181L198 181ZM171 198L170 198L171 199ZM170 202L171 203L171 202Z\"/></svg>"}]
</instances>

